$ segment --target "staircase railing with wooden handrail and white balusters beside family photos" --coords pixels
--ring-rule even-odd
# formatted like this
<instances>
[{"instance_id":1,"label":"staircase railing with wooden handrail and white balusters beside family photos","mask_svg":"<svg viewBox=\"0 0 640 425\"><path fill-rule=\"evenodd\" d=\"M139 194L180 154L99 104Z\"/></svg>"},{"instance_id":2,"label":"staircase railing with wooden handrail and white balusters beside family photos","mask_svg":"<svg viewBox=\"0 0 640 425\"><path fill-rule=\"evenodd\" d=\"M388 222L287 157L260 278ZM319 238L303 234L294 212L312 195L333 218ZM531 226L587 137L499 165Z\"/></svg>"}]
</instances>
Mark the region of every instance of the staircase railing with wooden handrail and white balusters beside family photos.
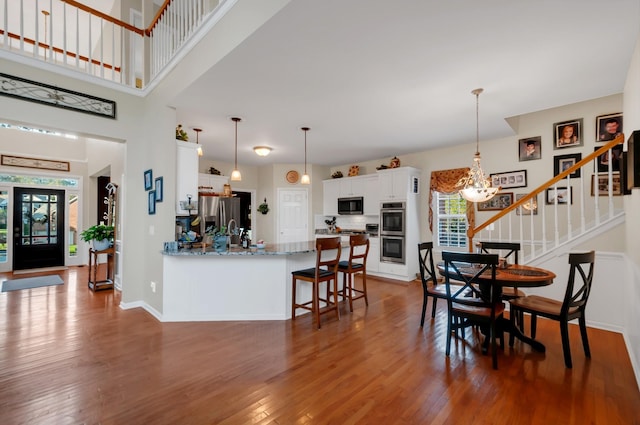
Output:
<instances>
[{"instance_id":1,"label":"staircase railing with wooden handrail and white balusters beside family photos","mask_svg":"<svg viewBox=\"0 0 640 425\"><path fill-rule=\"evenodd\" d=\"M624 157L617 159L617 153L623 142L624 136L619 135L482 224L469 228L469 249L473 250L474 240L519 242L521 262L531 262L587 232L606 229L608 223L621 220L626 164ZM610 160L603 164L603 158Z\"/></svg>"}]
</instances>

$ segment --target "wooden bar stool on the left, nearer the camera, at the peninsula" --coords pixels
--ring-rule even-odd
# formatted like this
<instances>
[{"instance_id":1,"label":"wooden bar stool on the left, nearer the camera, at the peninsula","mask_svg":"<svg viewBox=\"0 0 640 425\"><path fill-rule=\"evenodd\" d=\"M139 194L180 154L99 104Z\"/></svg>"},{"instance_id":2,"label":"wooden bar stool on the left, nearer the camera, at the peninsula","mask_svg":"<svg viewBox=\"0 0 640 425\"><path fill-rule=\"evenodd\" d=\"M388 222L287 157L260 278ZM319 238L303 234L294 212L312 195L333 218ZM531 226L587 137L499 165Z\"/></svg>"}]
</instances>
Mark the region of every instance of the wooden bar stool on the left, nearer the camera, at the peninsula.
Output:
<instances>
[{"instance_id":1,"label":"wooden bar stool on the left, nearer the camera, at the peninsula","mask_svg":"<svg viewBox=\"0 0 640 425\"><path fill-rule=\"evenodd\" d=\"M327 252L333 251L333 252ZM338 262L342 252L340 236L334 238L316 239L316 266L291 272L291 320L296 319L296 309L303 308L311 311L320 329L320 315L335 310L336 317L340 320L338 311ZM335 255L334 255L335 254ZM297 281L311 282L311 301L299 303L296 301ZM327 282L327 295L320 298L320 283ZM333 285L331 284L333 282ZM333 302L330 300L330 288L333 286ZM324 302L322 309L320 301Z\"/></svg>"}]
</instances>

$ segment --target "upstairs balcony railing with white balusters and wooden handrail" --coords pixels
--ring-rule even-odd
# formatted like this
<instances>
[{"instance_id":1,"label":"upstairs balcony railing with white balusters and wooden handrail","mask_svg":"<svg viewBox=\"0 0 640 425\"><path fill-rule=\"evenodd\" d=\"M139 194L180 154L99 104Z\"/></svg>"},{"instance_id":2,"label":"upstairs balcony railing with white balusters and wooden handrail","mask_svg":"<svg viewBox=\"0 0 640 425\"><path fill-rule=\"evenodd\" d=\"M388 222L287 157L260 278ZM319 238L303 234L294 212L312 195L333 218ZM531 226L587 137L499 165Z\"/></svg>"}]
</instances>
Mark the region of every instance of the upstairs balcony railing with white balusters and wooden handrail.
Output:
<instances>
[{"instance_id":1,"label":"upstairs balcony railing with white balusters and wooden handrail","mask_svg":"<svg viewBox=\"0 0 640 425\"><path fill-rule=\"evenodd\" d=\"M165 0L151 24L140 28L75 0L0 0L0 48L144 88L208 19L235 1Z\"/></svg>"}]
</instances>

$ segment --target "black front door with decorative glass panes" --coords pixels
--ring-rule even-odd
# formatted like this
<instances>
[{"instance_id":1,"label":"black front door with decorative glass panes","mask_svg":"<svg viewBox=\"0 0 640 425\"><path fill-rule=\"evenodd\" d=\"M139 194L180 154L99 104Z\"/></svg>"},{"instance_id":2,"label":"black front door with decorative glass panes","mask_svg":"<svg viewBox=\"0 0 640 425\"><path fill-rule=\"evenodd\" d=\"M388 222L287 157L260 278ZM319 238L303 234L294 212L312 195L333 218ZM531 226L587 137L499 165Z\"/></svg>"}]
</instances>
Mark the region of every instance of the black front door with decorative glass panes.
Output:
<instances>
[{"instance_id":1,"label":"black front door with decorative glass panes","mask_svg":"<svg viewBox=\"0 0 640 425\"><path fill-rule=\"evenodd\" d=\"M64 266L64 190L14 188L13 269Z\"/></svg>"}]
</instances>

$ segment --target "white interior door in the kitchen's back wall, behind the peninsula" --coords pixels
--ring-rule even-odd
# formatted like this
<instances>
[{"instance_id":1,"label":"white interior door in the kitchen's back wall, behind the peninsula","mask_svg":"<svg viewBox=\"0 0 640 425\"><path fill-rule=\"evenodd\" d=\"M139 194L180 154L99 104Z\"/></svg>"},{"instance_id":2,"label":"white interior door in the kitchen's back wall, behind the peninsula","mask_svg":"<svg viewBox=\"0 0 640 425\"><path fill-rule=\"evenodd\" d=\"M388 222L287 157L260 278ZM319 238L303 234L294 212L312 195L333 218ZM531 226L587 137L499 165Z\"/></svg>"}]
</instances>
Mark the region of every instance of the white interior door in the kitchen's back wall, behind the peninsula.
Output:
<instances>
[{"instance_id":1,"label":"white interior door in the kitchen's back wall, behind the peninsula","mask_svg":"<svg viewBox=\"0 0 640 425\"><path fill-rule=\"evenodd\" d=\"M278 243L309 240L309 192L278 189Z\"/></svg>"}]
</instances>

